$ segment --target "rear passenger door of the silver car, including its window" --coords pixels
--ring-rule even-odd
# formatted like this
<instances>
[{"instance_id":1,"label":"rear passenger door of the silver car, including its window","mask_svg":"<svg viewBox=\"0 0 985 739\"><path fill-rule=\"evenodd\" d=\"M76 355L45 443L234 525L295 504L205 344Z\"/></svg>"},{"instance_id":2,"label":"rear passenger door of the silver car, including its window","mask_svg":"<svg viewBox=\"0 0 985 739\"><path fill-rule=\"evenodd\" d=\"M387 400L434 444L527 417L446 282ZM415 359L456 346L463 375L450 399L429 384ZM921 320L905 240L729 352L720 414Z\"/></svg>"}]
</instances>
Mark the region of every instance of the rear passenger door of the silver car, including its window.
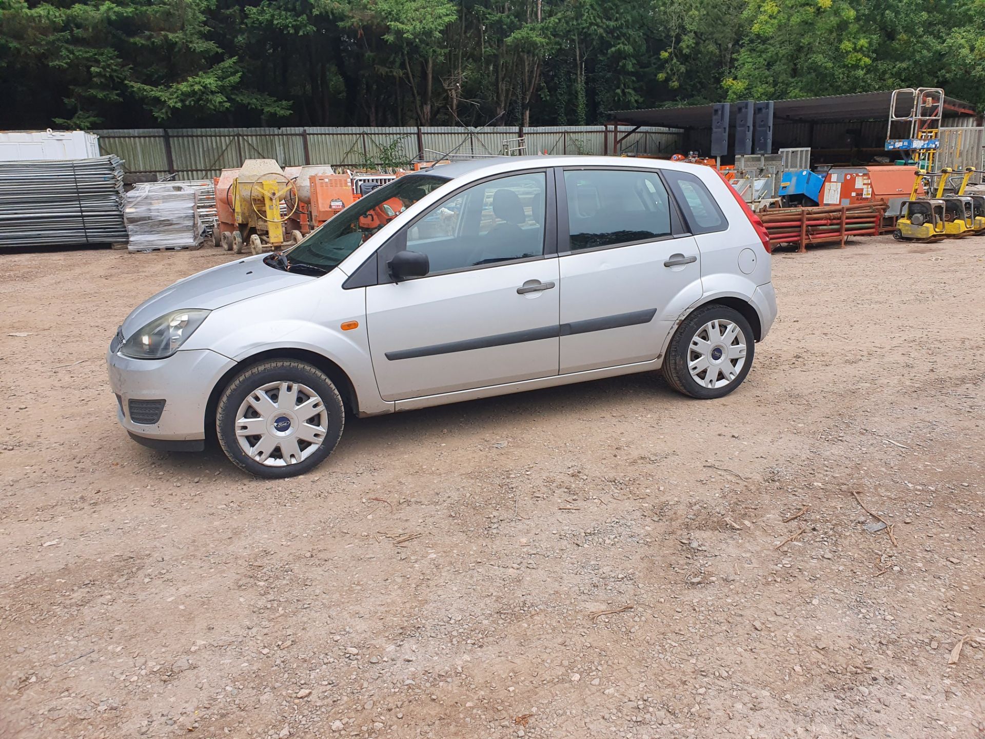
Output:
<instances>
[{"instance_id":1,"label":"rear passenger door of the silver car, including its window","mask_svg":"<svg viewBox=\"0 0 985 739\"><path fill-rule=\"evenodd\" d=\"M701 297L700 258L656 171L558 170L560 372L655 360L667 303Z\"/></svg>"}]
</instances>

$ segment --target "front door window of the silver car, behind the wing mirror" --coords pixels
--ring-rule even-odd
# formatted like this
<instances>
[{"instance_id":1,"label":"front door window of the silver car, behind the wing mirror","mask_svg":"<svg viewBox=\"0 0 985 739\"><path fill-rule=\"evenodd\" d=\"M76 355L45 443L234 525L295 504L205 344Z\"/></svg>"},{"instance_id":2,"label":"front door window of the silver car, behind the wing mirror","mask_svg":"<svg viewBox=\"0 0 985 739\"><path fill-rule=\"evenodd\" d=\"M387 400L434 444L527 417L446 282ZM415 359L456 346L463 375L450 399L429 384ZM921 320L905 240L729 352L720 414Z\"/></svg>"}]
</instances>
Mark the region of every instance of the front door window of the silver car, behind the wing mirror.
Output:
<instances>
[{"instance_id":1,"label":"front door window of the silver car, behind the wing mirror","mask_svg":"<svg viewBox=\"0 0 985 739\"><path fill-rule=\"evenodd\" d=\"M473 185L436 206L407 233L407 249L427 254L428 274L544 253L544 172Z\"/></svg>"}]
</instances>

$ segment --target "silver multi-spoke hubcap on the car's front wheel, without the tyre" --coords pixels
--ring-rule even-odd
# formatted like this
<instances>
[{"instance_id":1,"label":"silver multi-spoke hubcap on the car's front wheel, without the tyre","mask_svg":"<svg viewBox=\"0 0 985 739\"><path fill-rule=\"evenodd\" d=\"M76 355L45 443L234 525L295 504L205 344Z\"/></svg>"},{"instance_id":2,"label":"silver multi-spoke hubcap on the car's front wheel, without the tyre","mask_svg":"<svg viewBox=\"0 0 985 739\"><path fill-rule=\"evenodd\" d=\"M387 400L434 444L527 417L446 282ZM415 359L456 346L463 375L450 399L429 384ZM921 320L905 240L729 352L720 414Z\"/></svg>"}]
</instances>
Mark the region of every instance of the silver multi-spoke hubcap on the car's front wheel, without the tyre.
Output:
<instances>
[{"instance_id":1,"label":"silver multi-spoke hubcap on the car's front wheel, without the tyre","mask_svg":"<svg viewBox=\"0 0 985 739\"><path fill-rule=\"evenodd\" d=\"M328 432L328 412L318 394L298 382L268 382L236 412L236 440L251 459L284 467L307 459Z\"/></svg>"}]
</instances>

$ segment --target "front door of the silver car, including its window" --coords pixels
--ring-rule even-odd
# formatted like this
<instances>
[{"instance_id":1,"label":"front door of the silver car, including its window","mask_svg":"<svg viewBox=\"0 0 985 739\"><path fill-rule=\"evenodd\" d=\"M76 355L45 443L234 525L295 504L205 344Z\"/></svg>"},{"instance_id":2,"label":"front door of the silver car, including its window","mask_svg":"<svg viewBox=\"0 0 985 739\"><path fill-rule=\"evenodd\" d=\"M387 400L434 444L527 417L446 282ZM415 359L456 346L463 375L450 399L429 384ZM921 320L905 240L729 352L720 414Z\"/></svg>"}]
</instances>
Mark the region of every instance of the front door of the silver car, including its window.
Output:
<instances>
[{"instance_id":1,"label":"front door of the silver car, including its window","mask_svg":"<svg viewBox=\"0 0 985 739\"><path fill-rule=\"evenodd\" d=\"M549 174L468 186L395 237L427 254L430 271L366 288L370 355L385 400L558 373ZM392 250L384 245L381 258Z\"/></svg>"}]
</instances>

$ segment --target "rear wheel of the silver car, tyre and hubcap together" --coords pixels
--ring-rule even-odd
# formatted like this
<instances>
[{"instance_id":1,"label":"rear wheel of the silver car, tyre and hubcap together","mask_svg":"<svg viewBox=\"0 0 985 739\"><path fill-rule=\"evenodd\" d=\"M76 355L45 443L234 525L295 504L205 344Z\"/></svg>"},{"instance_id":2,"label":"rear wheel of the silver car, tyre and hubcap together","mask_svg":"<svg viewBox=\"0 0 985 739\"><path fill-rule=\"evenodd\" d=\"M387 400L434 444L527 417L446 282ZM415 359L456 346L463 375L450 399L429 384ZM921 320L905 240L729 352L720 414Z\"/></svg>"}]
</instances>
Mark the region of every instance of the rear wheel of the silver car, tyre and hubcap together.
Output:
<instances>
[{"instance_id":1,"label":"rear wheel of the silver car, tyre and hubcap together","mask_svg":"<svg viewBox=\"0 0 985 739\"><path fill-rule=\"evenodd\" d=\"M749 321L738 310L713 302L695 308L674 332L662 370L678 392L710 400L742 384L754 355Z\"/></svg>"}]
</instances>

